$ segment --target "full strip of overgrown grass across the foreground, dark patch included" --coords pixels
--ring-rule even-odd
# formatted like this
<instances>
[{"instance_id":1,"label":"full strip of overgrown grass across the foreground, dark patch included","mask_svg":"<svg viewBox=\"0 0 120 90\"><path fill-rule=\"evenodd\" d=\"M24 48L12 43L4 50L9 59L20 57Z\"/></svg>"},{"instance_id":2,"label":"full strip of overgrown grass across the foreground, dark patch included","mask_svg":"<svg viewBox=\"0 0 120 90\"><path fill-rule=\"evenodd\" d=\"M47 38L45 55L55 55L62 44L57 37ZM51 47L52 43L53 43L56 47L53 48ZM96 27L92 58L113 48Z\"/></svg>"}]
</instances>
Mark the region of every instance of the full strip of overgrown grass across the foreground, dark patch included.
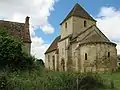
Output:
<instances>
[{"instance_id":1,"label":"full strip of overgrown grass across the foreground, dark patch included","mask_svg":"<svg viewBox=\"0 0 120 90\"><path fill-rule=\"evenodd\" d=\"M117 90L120 90L119 76L120 72L113 73ZM77 90L77 88L78 90L113 90L110 80L110 73L98 75L53 72L46 71L42 67L35 67L31 71L1 71L0 87L3 89L0 90Z\"/></svg>"}]
</instances>

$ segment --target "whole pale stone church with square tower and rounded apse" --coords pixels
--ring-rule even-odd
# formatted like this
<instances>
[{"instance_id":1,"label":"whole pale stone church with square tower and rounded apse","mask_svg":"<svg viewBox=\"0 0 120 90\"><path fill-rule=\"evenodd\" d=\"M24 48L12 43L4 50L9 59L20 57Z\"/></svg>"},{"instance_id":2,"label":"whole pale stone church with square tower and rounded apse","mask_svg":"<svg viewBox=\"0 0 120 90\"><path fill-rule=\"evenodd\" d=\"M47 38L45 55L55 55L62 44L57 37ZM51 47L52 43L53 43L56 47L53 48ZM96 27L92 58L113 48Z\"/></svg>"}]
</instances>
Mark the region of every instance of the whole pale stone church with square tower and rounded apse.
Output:
<instances>
[{"instance_id":1,"label":"whole pale stone church with square tower and rounded apse","mask_svg":"<svg viewBox=\"0 0 120 90\"><path fill-rule=\"evenodd\" d=\"M60 36L45 52L45 67L55 71L103 71L117 67L116 44L78 3L60 23Z\"/></svg>"}]
</instances>

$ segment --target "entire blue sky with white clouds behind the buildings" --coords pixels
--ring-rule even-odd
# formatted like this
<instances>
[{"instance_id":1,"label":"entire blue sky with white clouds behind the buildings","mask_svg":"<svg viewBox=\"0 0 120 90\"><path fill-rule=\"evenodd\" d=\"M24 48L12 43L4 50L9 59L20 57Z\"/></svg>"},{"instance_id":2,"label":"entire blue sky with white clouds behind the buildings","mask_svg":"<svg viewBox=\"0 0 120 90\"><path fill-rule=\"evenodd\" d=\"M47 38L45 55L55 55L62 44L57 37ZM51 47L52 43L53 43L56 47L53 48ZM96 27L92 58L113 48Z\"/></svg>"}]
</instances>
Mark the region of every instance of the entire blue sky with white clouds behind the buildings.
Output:
<instances>
[{"instance_id":1,"label":"entire blue sky with white clouds behind the buildings","mask_svg":"<svg viewBox=\"0 0 120 90\"><path fill-rule=\"evenodd\" d=\"M60 22L76 3L97 20L120 54L120 0L0 0L0 19L25 22L29 16L31 54L44 60L44 52L60 34Z\"/></svg>"}]
</instances>

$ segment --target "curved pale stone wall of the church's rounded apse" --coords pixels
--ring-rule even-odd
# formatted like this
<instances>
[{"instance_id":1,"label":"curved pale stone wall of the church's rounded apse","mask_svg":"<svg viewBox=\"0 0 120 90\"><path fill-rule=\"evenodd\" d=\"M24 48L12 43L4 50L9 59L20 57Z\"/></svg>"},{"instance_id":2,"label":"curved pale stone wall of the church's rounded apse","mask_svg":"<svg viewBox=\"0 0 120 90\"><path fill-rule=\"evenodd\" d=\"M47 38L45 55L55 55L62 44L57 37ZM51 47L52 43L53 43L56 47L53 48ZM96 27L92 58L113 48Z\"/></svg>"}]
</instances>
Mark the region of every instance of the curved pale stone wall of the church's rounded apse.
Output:
<instances>
[{"instance_id":1,"label":"curved pale stone wall of the church's rounded apse","mask_svg":"<svg viewBox=\"0 0 120 90\"><path fill-rule=\"evenodd\" d=\"M101 43L101 44L86 44L86 45L80 46L78 51L79 51L78 54L80 55L80 57L79 57L80 66L81 66L80 72L84 72L85 69L87 70L87 68L88 68L88 70L90 70L91 66L89 66L89 64L90 63L91 63L91 65L94 64L95 60L98 60L98 62L99 62L101 59L106 59L105 61L107 61L108 58L111 60L111 64L109 65L110 68L115 69L117 67L117 61L116 61L117 60L117 58L116 58L117 50L116 50L115 46L113 46L111 44L103 44L103 43ZM108 57L108 52L110 53L110 57ZM85 53L87 54L87 60L85 60ZM102 65L100 65L100 67L98 66L98 68L100 69L101 66ZM102 68L104 68L104 66ZM93 71L95 71L95 67L93 68Z\"/></svg>"}]
</instances>

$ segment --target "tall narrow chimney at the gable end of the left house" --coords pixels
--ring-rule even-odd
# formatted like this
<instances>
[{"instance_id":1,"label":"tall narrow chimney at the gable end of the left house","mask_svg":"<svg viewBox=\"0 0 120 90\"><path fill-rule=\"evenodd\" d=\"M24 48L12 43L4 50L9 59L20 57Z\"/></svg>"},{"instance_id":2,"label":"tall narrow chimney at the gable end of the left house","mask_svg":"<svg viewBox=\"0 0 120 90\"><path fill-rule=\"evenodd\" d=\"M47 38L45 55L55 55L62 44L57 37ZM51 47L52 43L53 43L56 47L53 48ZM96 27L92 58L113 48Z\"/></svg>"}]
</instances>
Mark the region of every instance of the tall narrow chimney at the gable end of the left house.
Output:
<instances>
[{"instance_id":1,"label":"tall narrow chimney at the gable end of the left house","mask_svg":"<svg viewBox=\"0 0 120 90\"><path fill-rule=\"evenodd\" d=\"M29 31L29 18L30 17L28 16L25 18L24 41L31 43L30 31Z\"/></svg>"}]
</instances>

